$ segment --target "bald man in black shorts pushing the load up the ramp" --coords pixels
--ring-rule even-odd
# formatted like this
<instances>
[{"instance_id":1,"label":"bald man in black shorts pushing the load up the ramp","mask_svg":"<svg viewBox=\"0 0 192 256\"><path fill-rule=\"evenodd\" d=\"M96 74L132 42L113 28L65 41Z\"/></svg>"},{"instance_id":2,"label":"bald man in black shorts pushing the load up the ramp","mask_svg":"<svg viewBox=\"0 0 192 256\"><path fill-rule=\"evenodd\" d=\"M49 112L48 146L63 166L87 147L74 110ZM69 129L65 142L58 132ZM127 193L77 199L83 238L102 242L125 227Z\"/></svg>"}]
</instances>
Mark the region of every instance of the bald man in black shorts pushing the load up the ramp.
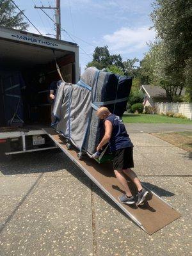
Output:
<instances>
[{"instance_id":1,"label":"bald man in black shorts pushing the load up the ramp","mask_svg":"<svg viewBox=\"0 0 192 256\"><path fill-rule=\"evenodd\" d=\"M136 173L131 168L134 167L132 148L133 144L127 134L125 125L119 116L111 114L109 109L101 107L97 110L99 119L104 120L105 134L99 145L97 152L102 150L102 147L109 143L109 149L113 152L113 168L116 179L122 184L125 189L125 195L119 196L120 202L123 204L134 204L134 197L129 189L125 175L134 182L138 188L138 199L136 205L140 205L148 194L148 191L142 187Z\"/></svg>"}]
</instances>

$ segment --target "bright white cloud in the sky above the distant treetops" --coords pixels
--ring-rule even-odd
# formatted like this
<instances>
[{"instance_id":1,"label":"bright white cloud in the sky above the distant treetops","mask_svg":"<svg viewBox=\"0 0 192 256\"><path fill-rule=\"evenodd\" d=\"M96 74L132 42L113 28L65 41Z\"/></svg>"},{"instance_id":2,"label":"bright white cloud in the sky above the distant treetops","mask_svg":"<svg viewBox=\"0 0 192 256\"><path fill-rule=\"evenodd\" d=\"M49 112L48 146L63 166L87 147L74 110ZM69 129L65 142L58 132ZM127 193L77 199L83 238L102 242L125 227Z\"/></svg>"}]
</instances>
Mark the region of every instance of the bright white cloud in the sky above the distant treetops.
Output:
<instances>
[{"instance_id":1,"label":"bright white cloud in the sky above the distant treetops","mask_svg":"<svg viewBox=\"0 0 192 256\"><path fill-rule=\"evenodd\" d=\"M148 27L121 28L111 35L104 35L105 44L110 51L124 54L145 49L147 42L153 42L155 31Z\"/></svg>"}]
</instances>

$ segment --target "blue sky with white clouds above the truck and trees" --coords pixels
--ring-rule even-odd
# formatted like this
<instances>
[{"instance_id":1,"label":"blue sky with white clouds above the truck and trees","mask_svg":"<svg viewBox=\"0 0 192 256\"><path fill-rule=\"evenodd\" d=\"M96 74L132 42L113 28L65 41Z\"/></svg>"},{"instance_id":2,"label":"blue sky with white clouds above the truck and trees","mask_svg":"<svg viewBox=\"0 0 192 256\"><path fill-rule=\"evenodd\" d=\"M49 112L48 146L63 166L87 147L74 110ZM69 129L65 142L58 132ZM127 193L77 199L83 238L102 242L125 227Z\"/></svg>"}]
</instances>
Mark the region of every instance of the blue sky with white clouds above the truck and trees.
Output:
<instances>
[{"instance_id":1,"label":"blue sky with white clouds above the truck and trees","mask_svg":"<svg viewBox=\"0 0 192 256\"><path fill-rule=\"evenodd\" d=\"M80 65L92 61L95 46L109 46L111 54L121 54L123 60L138 58L148 51L147 42L153 42L155 32L149 14L152 12L152 0L61 0L61 27L75 38L81 47ZM25 14L42 34L55 34L53 22L36 6L54 6L54 0L15 0L26 10ZM46 11L54 19L54 11ZM32 26L29 31L38 33ZM67 33L61 33L61 39L72 41ZM85 54L85 52L87 54Z\"/></svg>"}]
</instances>

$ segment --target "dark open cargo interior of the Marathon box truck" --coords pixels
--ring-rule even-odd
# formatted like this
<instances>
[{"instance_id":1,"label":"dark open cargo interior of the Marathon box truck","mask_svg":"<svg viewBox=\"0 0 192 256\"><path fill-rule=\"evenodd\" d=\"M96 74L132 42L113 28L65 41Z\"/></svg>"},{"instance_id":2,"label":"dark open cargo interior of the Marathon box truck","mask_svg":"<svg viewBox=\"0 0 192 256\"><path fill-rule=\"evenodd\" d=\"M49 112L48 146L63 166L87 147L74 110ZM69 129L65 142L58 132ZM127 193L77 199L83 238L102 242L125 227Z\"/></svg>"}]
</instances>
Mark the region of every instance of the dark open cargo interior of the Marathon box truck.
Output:
<instances>
[{"instance_id":1,"label":"dark open cargo interior of the Marathon box truck","mask_svg":"<svg viewBox=\"0 0 192 256\"><path fill-rule=\"evenodd\" d=\"M49 86L61 78L75 83L74 52L0 40L0 127L51 124Z\"/></svg>"}]
</instances>

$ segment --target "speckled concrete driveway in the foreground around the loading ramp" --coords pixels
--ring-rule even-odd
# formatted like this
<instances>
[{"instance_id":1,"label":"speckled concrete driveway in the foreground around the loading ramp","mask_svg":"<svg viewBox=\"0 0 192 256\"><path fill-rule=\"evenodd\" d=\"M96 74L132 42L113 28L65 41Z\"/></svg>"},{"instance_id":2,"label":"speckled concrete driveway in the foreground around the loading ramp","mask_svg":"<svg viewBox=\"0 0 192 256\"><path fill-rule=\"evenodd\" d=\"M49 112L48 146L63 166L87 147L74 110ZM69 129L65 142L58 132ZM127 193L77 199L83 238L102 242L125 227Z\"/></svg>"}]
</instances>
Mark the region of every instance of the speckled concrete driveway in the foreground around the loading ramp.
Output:
<instances>
[{"instance_id":1,"label":"speckled concrete driveway in the foreground around the loading ramp","mask_svg":"<svg viewBox=\"0 0 192 256\"><path fill-rule=\"evenodd\" d=\"M0 255L189 255L192 161L150 134L130 136L134 170L181 218L149 236L62 152L18 155L0 163Z\"/></svg>"}]
</instances>

